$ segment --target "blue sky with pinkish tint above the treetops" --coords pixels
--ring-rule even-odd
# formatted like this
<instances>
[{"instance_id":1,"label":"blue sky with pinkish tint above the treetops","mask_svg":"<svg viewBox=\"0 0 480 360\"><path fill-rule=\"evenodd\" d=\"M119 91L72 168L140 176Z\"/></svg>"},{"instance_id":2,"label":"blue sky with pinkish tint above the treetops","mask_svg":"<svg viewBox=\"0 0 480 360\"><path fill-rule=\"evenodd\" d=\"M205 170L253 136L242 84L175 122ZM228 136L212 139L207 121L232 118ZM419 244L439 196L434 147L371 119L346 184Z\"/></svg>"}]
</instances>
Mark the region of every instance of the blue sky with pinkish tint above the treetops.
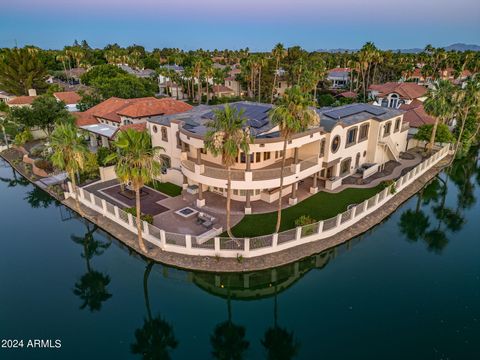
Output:
<instances>
[{"instance_id":1,"label":"blue sky with pinkish tint above the treetops","mask_svg":"<svg viewBox=\"0 0 480 360\"><path fill-rule=\"evenodd\" d=\"M480 45L480 0L0 0L0 47Z\"/></svg>"}]
</instances>

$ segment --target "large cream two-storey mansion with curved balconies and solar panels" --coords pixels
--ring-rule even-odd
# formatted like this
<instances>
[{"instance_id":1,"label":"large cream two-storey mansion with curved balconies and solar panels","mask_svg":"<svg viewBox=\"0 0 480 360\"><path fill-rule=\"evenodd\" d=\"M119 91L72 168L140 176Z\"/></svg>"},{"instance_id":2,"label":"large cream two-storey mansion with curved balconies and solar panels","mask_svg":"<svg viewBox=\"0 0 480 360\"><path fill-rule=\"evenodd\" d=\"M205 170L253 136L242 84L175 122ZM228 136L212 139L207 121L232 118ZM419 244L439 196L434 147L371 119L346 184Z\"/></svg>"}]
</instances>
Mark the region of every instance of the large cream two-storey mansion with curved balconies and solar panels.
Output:
<instances>
[{"instance_id":1,"label":"large cream two-storey mansion with curved balconies and solar panels","mask_svg":"<svg viewBox=\"0 0 480 360\"><path fill-rule=\"evenodd\" d=\"M201 105L147 120L153 145L165 149L163 158L170 165L167 181L198 192L198 206L206 204L205 191L226 196L227 172L221 156L207 151L204 143L214 110L223 106ZM245 212L250 213L251 201L278 199L283 139L269 120L272 105L241 101L230 106L244 111L253 136L250 153L239 154L231 175L232 199L244 202ZM297 202L299 188L312 193L319 187L335 189L362 165L369 164L376 172L389 160L398 160L406 148L408 124L403 111L368 104L316 111L320 125L294 135L287 145L282 194L290 194L290 204Z\"/></svg>"}]
</instances>

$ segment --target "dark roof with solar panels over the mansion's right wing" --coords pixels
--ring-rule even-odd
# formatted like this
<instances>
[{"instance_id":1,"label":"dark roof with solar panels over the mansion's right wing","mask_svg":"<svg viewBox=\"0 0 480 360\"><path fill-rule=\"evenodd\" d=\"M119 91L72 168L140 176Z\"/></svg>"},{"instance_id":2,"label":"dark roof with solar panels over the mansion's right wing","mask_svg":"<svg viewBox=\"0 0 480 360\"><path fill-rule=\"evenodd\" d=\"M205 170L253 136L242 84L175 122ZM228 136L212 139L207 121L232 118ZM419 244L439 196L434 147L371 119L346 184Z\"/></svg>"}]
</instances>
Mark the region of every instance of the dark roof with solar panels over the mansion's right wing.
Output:
<instances>
[{"instance_id":1,"label":"dark roof with solar panels over the mansion's right wing","mask_svg":"<svg viewBox=\"0 0 480 360\"><path fill-rule=\"evenodd\" d=\"M370 104L349 104L324 107L317 109L317 113L320 115L320 126L330 132L336 125L351 126L369 119L381 122L401 115L403 111Z\"/></svg>"}]
</instances>

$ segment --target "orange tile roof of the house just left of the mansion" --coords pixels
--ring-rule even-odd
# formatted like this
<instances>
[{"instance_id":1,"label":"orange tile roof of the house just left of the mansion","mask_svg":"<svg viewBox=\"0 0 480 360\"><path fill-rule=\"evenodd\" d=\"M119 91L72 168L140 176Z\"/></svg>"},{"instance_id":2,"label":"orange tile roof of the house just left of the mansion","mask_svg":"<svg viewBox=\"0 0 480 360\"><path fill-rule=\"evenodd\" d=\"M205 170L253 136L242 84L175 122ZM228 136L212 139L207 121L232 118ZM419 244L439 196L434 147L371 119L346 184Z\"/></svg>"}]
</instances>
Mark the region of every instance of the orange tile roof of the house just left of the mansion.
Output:
<instances>
[{"instance_id":1,"label":"orange tile roof of the house just left of the mansion","mask_svg":"<svg viewBox=\"0 0 480 360\"><path fill-rule=\"evenodd\" d=\"M97 118L119 123L120 116L131 118L150 117L161 114L175 114L188 111L192 108L182 101L175 99L156 99L154 97L120 99L111 97L100 104L77 113L77 126L96 124Z\"/></svg>"}]
</instances>

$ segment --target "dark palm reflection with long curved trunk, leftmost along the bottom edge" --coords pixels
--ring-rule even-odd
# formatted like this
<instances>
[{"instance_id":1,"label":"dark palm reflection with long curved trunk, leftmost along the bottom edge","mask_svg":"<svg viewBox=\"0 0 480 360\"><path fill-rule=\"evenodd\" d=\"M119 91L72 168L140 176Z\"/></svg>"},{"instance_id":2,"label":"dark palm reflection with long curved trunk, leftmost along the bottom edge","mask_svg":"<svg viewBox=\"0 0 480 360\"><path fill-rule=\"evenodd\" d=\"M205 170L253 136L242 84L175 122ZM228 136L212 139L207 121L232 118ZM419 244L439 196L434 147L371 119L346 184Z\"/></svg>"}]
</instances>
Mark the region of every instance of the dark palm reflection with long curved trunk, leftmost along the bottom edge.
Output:
<instances>
[{"instance_id":1,"label":"dark palm reflection with long curved trunk, leftmost along the bottom edge","mask_svg":"<svg viewBox=\"0 0 480 360\"><path fill-rule=\"evenodd\" d=\"M143 320L143 326L135 330L135 342L131 344L133 354L141 355L145 360L168 360L170 351L178 346L173 327L165 321L160 314L153 317L150 309L148 296L148 277L154 266L149 261L143 274L143 295L147 317Z\"/></svg>"}]
</instances>

